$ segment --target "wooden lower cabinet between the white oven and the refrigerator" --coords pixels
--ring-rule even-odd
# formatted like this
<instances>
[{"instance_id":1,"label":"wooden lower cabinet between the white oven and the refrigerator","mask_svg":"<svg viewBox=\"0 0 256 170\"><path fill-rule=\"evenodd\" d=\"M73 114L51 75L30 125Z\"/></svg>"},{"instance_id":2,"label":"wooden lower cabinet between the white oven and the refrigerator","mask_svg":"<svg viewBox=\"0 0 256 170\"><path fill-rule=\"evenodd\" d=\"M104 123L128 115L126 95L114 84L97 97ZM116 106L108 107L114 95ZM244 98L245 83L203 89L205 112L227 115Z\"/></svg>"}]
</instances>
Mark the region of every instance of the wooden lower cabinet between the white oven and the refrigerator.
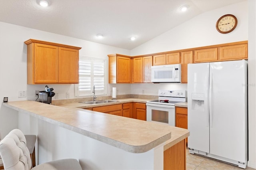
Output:
<instances>
[{"instance_id":1,"label":"wooden lower cabinet between the white oven and the refrigerator","mask_svg":"<svg viewBox=\"0 0 256 170\"><path fill-rule=\"evenodd\" d=\"M188 108L186 107L176 107L175 109L175 125L176 127L188 129ZM188 138L186 138L186 143L188 143Z\"/></svg>"}]
</instances>

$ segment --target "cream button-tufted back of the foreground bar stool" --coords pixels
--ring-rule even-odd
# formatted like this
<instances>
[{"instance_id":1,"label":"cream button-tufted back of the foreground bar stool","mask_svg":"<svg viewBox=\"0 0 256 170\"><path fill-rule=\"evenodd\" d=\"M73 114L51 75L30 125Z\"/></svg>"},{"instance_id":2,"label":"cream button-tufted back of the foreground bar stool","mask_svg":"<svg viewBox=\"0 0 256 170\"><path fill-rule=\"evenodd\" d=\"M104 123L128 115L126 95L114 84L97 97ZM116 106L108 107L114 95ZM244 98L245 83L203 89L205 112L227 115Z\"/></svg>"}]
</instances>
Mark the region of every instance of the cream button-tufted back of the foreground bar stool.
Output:
<instances>
[{"instance_id":1,"label":"cream button-tufted back of the foreground bar stool","mask_svg":"<svg viewBox=\"0 0 256 170\"><path fill-rule=\"evenodd\" d=\"M26 138L21 130L14 129L0 142L0 155L5 170L30 170L31 159Z\"/></svg>"}]
</instances>

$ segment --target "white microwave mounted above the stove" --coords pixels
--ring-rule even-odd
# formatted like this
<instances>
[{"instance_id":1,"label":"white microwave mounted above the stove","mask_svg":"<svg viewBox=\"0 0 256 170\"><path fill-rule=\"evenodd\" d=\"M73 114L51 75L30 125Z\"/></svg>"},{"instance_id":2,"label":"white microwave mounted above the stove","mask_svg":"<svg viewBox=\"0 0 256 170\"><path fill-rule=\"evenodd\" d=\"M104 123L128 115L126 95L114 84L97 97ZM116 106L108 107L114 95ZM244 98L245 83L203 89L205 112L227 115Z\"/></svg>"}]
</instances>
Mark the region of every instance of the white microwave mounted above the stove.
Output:
<instances>
[{"instance_id":1,"label":"white microwave mounted above the stove","mask_svg":"<svg viewBox=\"0 0 256 170\"><path fill-rule=\"evenodd\" d=\"M181 65L154 65L151 66L151 82L174 82L180 83L181 81Z\"/></svg>"}]
</instances>

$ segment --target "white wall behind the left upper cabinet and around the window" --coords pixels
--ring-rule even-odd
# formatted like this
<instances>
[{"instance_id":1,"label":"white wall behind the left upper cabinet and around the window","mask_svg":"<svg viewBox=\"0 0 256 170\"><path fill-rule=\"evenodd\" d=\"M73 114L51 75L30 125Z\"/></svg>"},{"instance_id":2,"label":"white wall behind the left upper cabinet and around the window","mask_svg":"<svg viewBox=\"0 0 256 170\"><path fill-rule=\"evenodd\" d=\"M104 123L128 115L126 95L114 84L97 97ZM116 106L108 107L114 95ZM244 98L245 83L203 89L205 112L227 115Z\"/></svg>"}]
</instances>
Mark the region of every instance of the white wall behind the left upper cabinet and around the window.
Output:
<instances>
[{"instance_id":1,"label":"white wall behind the left upper cabinet and around the window","mask_svg":"<svg viewBox=\"0 0 256 170\"><path fill-rule=\"evenodd\" d=\"M13 24L0 22L0 99L4 97L9 101L35 100L34 90L44 90L44 85L27 85L27 46L24 41L28 39L43 40L82 47L80 55L108 58L108 54L120 53L130 55L130 50L88 42L77 38L71 38L40 30L34 30ZM43 64L43 63L42 63ZM59 93L59 99L66 99L66 92L70 98L74 98L74 85L47 84ZM117 87L118 93L130 94L130 85L108 84L110 89ZM27 97L18 98L18 91L27 91ZM18 126L18 117L12 111L0 106L0 132L5 136L13 128Z\"/></svg>"}]
</instances>

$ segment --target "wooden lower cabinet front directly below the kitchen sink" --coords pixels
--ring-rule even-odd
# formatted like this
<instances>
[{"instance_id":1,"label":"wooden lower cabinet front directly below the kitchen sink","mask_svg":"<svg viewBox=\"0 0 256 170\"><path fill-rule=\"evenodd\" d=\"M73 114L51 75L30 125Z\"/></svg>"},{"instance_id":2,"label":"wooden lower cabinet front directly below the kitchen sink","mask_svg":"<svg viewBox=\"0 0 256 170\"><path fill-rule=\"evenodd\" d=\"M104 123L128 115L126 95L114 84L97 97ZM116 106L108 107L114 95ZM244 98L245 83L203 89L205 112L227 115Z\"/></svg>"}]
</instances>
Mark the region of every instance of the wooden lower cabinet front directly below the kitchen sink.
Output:
<instances>
[{"instance_id":1,"label":"wooden lower cabinet front directly below the kitchen sink","mask_svg":"<svg viewBox=\"0 0 256 170\"><path fill-rule=\"evenodd\" d=\"M108 113L108 114L111 114L111 115L118 115L118 116L123 115L122 114L122 104L93 107L92 111Z\"/></svg>"}]
</instances>

